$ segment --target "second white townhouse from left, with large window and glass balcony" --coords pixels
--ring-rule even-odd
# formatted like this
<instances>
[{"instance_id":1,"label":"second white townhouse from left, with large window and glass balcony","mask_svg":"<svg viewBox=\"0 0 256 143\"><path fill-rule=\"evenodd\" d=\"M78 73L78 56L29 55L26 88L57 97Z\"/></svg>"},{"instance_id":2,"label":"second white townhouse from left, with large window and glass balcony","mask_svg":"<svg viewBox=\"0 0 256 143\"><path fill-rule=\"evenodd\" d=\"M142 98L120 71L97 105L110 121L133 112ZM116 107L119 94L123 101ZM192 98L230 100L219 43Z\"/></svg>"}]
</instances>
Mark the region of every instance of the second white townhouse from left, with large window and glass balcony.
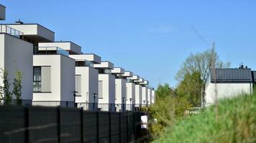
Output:
<instances>
[{"instance_id":1,"label":"second white townhouse from left, with large window and glass balcony","mask_svg":"<svg viewBox=\"0 0 256 143\"><path fill-rule=\"evenodd\" d=\"M34 73L41 69L41 84L44 85L45 83L49 89L44 89L44 86L38 92L34 89L33 104L61 107L75 106L76 62L75 59L69 57L70 53L81 54L81 46L71 41L38 43L34 55ZM44 74L45 72L47 74ZM47 75L50 76L44 78ZM44 93L49 91L50 93Z\"/></svg>"}]
</instances>

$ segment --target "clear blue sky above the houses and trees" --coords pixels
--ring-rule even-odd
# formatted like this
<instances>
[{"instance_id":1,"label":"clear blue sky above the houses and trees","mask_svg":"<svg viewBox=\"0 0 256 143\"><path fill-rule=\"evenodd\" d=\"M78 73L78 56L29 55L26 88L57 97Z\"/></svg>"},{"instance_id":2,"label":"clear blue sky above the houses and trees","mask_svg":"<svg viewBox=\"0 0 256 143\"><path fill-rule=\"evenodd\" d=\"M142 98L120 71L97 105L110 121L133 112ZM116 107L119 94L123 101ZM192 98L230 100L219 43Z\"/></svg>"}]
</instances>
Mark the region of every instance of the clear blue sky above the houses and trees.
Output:
<instances>
[{"instance_id":1,"label":"clear blue sky above the houses and trees","mask_svg":"<svg viewBox=\"0 0 256 143\"><path fill-rule=\"evenodd\" d=\"M255 0L1 0L6 21L21 19L55 31L115 66L175 86L191 53L211 47L224 61L256 70Z\"/></svg>"}]
</instances>

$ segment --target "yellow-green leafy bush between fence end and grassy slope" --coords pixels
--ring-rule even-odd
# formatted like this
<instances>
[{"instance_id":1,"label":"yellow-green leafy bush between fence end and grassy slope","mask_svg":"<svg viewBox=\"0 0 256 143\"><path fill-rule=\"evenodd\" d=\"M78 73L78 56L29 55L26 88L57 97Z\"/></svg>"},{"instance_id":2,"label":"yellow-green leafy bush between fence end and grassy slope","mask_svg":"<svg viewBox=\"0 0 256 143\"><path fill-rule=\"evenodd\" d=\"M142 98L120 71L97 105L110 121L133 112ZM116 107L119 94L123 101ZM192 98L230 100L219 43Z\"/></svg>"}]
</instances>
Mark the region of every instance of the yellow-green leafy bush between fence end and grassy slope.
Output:
<instances>
[{"instance_id":1,"label":"yellow-green leafy bush between fence end and grassy slope","mask_svg":"<svg viewBox=\"0 0 256 143\"><path fill-rule=\"evenodd\" d=\"M157 100L149 109L152 118L157 120L150 125L150 132L155 138L163 134L165 127L172 126L175 120L183 118L186 110L191 107L187 99L177 96L168 84L159 84L156 93Z\"/></svg>"}]
</instances>

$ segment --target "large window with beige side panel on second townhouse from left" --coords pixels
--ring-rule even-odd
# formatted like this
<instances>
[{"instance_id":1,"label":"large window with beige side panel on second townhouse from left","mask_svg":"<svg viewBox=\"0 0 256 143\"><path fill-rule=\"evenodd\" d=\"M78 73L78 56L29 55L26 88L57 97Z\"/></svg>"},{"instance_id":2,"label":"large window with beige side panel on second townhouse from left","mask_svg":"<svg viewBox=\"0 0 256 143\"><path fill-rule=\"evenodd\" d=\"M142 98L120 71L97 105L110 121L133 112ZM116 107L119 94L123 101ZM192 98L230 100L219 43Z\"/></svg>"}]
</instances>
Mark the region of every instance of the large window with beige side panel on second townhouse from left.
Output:
<instances>
[{"instance_id":1,"label":"large window with beige side panel on second townhouse from left","mask_svg":"<svg viewBox=\"0 0 256 143\"><path fill-rule=\"evenodd\" d=\"M50 66L34 66L33 69L33 91L51 92Z\"/></svg>"}]
</instances>

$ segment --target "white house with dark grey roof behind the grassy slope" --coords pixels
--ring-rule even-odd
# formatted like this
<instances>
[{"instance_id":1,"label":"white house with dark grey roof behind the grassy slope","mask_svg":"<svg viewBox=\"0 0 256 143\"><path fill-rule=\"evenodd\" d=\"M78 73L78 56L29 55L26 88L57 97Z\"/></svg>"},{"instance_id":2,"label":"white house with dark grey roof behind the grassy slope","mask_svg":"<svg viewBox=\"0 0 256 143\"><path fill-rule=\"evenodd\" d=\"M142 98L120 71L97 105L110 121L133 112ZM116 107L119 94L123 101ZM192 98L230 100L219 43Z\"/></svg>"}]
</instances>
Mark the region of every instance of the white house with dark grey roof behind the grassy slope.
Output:
<instances>
[{"instance_id":1,"label":"white house with dark grey roof behind the grassy slope","mask_svg":"<svg viewBox=\"0 0 256 143\"><path fill-rule=\"evenodd\" d=\"M211 69L206 82L206 106L216 99L232 98L239 94L252 94L254 71L244 69Z\"/></svg>"}]
</instances>

